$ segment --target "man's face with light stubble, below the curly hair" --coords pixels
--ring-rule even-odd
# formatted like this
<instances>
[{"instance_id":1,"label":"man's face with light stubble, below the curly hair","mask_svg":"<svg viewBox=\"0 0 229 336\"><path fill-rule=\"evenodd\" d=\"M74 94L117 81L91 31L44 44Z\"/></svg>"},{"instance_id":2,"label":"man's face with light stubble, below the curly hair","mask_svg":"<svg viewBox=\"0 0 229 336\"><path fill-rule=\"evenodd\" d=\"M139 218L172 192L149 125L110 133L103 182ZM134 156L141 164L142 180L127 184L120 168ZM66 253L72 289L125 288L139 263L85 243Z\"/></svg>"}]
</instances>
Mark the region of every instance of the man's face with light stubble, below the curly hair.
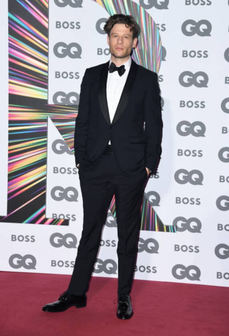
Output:
<instances>
[{"instance_id":1,"label":"man's face with light stubble, below the curly hair","mask_svg":"<svg viewBox=\"0 0 229 336\"><path fill-rule=\"evenodd\" d=\"M135 48L138 39L133 39L133 33L122 23L116 23L107 36L111 54L116 58L128 57L132 48Z\"/></svg>"}]
</instances>

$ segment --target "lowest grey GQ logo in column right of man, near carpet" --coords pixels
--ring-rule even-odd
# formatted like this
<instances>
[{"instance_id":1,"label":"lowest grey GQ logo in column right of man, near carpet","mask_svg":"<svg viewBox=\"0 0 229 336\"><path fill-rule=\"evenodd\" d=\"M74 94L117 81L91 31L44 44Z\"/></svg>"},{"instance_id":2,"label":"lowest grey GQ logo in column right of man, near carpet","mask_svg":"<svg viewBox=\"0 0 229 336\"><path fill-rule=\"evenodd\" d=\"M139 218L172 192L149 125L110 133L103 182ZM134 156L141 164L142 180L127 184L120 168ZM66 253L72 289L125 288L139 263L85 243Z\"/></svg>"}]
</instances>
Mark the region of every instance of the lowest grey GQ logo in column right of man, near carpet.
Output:
<instances>
[{"instance_id":1,"label":"lowest grey GQ logo in column right of man, near carpet","mask_svg":"<svg viewBox=\"0 0 229 336\"><path fill-rule=\"evenodd\" d=\"M190 265L185 267L182 264L177 264L172 268L172 274L174 278L178 280L183 280L187 278L191 281L200 281L200 269L195 265Z\"/></svg>"}]
</instances>

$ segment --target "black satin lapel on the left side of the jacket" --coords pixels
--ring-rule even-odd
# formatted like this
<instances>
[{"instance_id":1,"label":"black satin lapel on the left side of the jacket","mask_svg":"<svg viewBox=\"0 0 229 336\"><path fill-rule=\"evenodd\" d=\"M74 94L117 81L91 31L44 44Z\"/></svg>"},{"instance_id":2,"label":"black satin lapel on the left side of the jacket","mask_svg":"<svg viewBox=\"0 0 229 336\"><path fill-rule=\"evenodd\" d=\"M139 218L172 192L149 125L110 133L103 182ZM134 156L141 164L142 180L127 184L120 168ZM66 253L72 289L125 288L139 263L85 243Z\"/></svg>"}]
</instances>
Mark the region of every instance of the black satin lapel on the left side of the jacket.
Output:
<instances>
[{"instance_id":1,"label":"black satin lapel on the left side of the jacket","mask_svg":"<svg viewBox=\"0 0 229 336\"><path fill-rule=\"evenodd\" d=\"M100 108L103 113L104 118L107 123L110 125L110 115L107 105L107 75L108 75L109 61L104 64L101 74L100 74L100 89L99 89L99 101Z\"/></svg>"}]
</instances>

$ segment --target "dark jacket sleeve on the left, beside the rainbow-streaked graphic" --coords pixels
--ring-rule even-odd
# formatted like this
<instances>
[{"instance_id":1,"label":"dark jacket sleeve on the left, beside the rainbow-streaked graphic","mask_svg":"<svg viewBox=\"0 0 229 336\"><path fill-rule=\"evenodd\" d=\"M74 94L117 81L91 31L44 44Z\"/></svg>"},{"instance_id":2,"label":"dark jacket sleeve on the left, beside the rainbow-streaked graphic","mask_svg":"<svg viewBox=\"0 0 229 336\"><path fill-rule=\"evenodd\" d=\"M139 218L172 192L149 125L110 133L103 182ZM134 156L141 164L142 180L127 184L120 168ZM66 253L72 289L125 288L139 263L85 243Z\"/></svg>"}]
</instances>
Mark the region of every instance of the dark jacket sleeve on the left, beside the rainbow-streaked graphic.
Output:
<instances>
[{"instance_id":1,"label":"dark jacket sleeve on the left, beside the rainbow-streaked graphic","mask_svg":"<svg viewBox=\"0 0 229 336\"><path fill-rule=\"evenodd\" d=\"M86 69L80 87L78 115L75 123L74 150L76 165L80 163L83 154L86 153L86 141L89 118L89 76Z\"/></svg>"}]
</instances>

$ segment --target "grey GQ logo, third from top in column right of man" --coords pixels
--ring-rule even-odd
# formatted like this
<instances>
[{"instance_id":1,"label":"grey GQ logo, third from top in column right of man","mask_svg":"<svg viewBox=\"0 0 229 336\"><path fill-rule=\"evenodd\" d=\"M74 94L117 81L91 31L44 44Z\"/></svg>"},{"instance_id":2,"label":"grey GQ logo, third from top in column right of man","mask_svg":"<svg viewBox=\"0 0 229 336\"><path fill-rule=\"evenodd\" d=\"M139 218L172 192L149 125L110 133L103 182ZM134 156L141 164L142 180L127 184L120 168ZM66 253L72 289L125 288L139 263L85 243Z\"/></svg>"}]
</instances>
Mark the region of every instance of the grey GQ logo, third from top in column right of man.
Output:
<instances>
[{"instance_id":1,"label":"grey GQ logo, third from top in column right of man","mask_svg":"<svg viewBox=\"0 0 229 336\"><path fill-rule=\"evenodd\" d=\"M201 121L190 123L187 120L182 120L177 124L177 133L181 136L192 134L195 137L205 136L206 127Z\"/></svg>"}]
</instances>

